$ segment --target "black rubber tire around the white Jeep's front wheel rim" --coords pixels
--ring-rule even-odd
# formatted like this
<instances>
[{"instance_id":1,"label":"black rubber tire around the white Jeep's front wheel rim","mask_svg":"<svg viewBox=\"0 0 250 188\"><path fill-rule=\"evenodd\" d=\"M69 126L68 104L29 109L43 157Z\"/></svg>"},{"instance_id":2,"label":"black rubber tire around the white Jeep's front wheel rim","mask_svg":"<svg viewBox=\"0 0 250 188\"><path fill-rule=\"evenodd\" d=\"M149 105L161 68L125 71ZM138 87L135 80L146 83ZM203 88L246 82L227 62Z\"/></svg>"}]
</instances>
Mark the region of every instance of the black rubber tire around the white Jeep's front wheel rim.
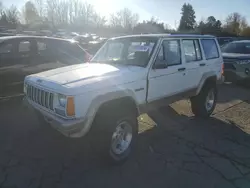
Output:
<instances>
[{"instance_id":1,"label":"black rubber tire around the white Jeep's front wheel rim","mask_svg":"<svg viewBox=\"0 0 250 188\"><path fill-rule=\"evenodd\" d=\"M134 110L116 111L115 109L109 109L105 113L102 111L102 113L97 114L93 128L88 135L95 154L101 157L101 160L111 164L125 162L132 154L138 137L138 121L136 113L133 113ZM111 149L112 135L116 127L123 122L127 122L131 126L132 140L129 147L123 153L116 154Z\"/></svg>"}]
</instances>

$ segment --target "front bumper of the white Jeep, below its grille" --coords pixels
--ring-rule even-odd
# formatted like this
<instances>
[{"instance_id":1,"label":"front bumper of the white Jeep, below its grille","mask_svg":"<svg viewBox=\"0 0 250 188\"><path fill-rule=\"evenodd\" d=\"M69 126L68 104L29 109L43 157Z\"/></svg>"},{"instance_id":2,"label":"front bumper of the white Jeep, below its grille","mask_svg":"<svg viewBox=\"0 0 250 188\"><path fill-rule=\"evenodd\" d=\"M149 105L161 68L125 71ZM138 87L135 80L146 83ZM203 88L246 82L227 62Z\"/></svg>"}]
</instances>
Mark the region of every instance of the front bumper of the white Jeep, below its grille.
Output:
<instances>
[{"instance_id":1,"label":"front bumper of the white Jeep, below its grille","mask_svg":"<svg viewBox=\"0 0 250 188\"><path fill-rule=\"evenodd\" d=\"M59 117L45 109L43 109L38 104L29 100L28 98L23 98L24 106L33 110L36 114L43 116L44 120L51 125L54 129L61 132L64 136L77 138L82 137L90 129L90 124L88 124L88 119L64 119Z\"/></svg>"}]
</instances>

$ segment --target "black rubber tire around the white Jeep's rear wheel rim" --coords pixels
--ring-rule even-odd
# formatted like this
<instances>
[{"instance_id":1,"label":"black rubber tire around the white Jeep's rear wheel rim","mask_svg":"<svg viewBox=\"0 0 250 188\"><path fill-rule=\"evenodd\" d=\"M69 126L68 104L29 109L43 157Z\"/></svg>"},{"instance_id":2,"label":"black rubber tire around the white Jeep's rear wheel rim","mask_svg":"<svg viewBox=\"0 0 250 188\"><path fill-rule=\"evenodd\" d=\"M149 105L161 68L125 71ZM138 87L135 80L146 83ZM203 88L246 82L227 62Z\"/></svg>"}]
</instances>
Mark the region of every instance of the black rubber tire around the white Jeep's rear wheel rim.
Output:
<instances>
[{"instance_id":1,"label":"black rubber tire around the white Jeep's rear wheel rim","mask_svg":"<svg viewBox=\"0 0 250 188\"><path fill-rule=\"evenodd\" d=\"M214 94L214 102L210 108L206 107L207 96L210 92ZM200 93L197 96L192 97L191 99L191 109L195 116L207 118L209 117L216 106L217 103L217 87L216 84L206 84L201 89Z\"/></svg>"}]
</instances>

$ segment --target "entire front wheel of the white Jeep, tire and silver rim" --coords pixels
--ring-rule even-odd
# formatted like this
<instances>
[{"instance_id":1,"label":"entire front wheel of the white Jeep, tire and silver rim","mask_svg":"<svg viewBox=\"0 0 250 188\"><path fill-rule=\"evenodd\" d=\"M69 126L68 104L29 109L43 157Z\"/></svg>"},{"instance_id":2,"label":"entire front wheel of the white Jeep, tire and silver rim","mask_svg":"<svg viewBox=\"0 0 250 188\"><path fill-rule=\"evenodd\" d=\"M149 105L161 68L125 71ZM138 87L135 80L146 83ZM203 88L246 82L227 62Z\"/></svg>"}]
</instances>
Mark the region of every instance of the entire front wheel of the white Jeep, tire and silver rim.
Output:
<instances>
[{"instance_id":1,"label":"entire front wheel of the white Jeep, tire and silver rim","mask_svg":"<svg viewBox=\"0 0 250 188\"><path fill-rule=\"evenodd\" d=\"M122 163L132 153L137 136L138 122L131 112L99 114L90 138L92 148L111 163Z\"/></svg>"}]
</instances>

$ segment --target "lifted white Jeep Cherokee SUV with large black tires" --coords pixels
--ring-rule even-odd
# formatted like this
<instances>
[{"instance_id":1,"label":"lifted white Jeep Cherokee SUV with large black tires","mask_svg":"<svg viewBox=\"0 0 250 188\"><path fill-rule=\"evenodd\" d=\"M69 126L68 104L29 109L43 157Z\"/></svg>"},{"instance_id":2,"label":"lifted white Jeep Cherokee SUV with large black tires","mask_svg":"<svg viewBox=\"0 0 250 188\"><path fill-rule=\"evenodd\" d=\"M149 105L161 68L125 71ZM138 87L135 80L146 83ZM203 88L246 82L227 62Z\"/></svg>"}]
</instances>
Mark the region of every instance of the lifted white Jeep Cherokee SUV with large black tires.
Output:
<instances>
[{"instance_id":1,"label":"lifted white Jeep Cherokee SUV with large black tires","mask_svg":"<svg viewBox=\"0 0 250 188\"><path fill-rule=\"evenodd\" d=\"M140 113L190 98L196 116L210 116L222 69L213 36L123 36L109 39L89 63L27 76L24 101L42 126L67 137L91 133L96 147L121 162L135 144Z\"/></svg>"}]
</instances>

